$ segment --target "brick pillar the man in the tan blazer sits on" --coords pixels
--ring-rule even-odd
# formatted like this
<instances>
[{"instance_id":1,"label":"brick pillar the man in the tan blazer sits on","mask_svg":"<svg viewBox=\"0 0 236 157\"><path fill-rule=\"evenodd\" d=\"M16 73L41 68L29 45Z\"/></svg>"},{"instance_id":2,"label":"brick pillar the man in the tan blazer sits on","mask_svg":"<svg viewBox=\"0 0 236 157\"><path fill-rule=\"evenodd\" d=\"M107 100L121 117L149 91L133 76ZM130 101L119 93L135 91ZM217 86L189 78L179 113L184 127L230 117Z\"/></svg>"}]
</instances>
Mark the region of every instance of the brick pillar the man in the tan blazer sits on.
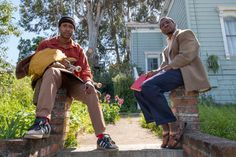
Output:
<instances>
[{"instance_id":1,"label":"brick pillar the man in the tan blazer sits on","mask_svg":"<svg viewBox=\"0 0 236 157\"><path fill-rule=\"evenodd\" d=\"M172 111L180 122L181 128L184 124L182 122L187 122L187 130L199 130L198 96L199 93L196 91L185 93L183 87L171 91Z\"/></svg>"}]
</instances>

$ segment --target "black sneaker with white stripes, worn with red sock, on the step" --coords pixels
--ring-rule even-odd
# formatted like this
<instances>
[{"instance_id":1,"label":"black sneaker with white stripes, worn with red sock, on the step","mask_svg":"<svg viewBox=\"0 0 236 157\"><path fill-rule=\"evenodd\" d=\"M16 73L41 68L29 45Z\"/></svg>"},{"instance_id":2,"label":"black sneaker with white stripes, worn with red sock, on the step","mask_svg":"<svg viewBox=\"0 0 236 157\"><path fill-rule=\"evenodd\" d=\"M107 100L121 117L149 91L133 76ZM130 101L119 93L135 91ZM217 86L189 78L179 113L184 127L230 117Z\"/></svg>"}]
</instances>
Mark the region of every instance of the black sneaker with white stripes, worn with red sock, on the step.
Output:
<instances>
[{"instance_id":1,"label":"black sneaker with white stripes, worn with red sock, on the step","mask_svg":"<svg viewBox=\"0 0 236 157\"><path fill-rule=\"evenodd\" d=\"M104 134L104 137L97 140L97 149L102 150L118 150L116 143L111 139L110 135Z\"/></svg>"}]
</instances>

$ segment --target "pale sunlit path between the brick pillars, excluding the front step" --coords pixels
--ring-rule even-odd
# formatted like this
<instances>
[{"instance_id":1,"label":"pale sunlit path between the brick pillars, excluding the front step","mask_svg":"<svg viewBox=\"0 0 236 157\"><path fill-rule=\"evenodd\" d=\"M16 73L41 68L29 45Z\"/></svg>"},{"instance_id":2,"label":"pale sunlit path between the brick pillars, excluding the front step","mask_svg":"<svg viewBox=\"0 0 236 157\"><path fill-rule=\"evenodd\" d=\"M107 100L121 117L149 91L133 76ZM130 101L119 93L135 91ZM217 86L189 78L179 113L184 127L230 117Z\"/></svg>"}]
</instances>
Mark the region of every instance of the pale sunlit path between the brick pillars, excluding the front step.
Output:
<instances>
[{"instance_id":1,"label":"pale sunlit path between the brick pillars, excluding the front step","mask_svg":"<svg viewBox=\"0 0 236 157\"><path fill-rule=\"evenodd\" d=\"M121 145L154 145L160 147L161 139L148 129L140 126L140 115L122 116L116 124L107 125L107 133L118 146ZM96 145L94 134L84 134L78 137L80 148Z\"/></svg>"}]
</instances>

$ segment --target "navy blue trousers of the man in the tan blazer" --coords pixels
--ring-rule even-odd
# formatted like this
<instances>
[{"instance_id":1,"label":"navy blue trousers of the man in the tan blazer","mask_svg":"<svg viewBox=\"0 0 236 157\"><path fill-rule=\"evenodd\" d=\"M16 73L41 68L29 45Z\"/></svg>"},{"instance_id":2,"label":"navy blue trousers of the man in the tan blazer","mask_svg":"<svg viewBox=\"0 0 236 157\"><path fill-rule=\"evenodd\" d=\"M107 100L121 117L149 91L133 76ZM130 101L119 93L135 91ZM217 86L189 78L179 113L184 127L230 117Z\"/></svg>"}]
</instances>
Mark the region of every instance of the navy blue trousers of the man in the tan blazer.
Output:
<instances>
[{"instance_id":1,"label":"navy blue trousers of the man in the tan blazer","mask_svg":"<svg viewBox=\"0 0 236 157\"><path fill-rule=\"evenodd\" d=\"M176 121L164 93L183 85L180 69L171 69L152 76L143 83L141 92L134 92L147 123L160 125Z\"/></svg>"}]
</instances>

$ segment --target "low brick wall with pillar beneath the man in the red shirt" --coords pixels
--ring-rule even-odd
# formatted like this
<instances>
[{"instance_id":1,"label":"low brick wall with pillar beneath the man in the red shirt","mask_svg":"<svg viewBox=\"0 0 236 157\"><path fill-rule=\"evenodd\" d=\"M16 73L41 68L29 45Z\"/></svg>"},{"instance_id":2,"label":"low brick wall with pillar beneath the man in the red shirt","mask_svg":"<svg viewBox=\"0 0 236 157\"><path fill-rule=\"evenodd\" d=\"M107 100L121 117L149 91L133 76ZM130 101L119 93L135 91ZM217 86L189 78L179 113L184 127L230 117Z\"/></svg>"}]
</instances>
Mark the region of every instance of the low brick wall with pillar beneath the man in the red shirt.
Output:
<instances>
[{"instance_id":1,"label":"low brick wall with pillar beneath the man in the red shirt","mask_svg":"<svg viewBox=\"0 0 236 157\"><path fill-rule=\"evenodd\" d=\"M0 140L0 157L53 157L63 148L68 132L69 109L71 100L66 98L66 91L60 89L57 93L52 111L51 136L47 139Z\"/></svg>"}]
</instances>

